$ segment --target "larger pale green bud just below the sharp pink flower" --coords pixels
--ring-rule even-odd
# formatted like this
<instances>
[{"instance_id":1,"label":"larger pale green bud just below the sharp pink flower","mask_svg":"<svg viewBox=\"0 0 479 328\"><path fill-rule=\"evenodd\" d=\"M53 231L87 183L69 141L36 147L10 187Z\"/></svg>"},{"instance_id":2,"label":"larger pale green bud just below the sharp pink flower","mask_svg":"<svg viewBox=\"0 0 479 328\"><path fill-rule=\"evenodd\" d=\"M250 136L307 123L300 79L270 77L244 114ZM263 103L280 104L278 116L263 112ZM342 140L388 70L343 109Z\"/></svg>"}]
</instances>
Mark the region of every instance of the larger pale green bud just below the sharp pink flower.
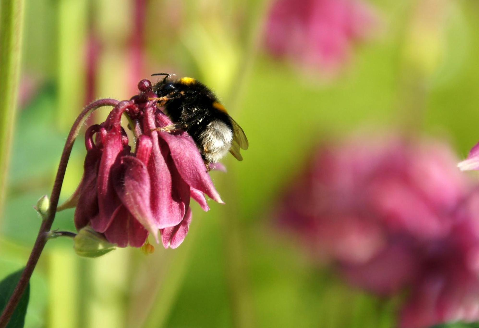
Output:
<instances>
[{"instance_id":1,"label":"larger pale green bud just below the sharp pink flower","mask_svg":"<svg viewBox=\"0 0 479 328\"><path fill-rule=\"evenodd\" d=\"M98 258L116 248L115 244L109 243L101 234L94 231L91 226L86 226L73 238L73 248L81 257Z\"/></svg>"}]
</instances>

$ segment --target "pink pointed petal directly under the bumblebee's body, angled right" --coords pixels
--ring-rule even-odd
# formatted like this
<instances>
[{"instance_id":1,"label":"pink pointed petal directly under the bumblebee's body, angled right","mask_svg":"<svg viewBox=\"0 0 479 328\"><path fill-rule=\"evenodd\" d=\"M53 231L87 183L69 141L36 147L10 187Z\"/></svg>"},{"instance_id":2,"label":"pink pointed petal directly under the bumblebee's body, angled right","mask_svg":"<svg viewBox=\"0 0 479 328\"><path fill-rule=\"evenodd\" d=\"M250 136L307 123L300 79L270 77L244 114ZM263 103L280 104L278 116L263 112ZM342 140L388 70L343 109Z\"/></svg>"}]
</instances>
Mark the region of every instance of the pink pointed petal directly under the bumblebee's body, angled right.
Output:
<instances>
[{"instance_id":1,"label":"pink pointed petal directly under the bumblebee's body, angled right","mask_svg":"<svg viewBox=\"0 0 479 328\"><path fill-rule=\"evenodd\" d=\"M160 138L168 143L171 158L184 181L191 187L223 204L211 177L206 172L205 163L193 139L186 133L170 134L160 132Z\"/></svg>"}]
</instances>

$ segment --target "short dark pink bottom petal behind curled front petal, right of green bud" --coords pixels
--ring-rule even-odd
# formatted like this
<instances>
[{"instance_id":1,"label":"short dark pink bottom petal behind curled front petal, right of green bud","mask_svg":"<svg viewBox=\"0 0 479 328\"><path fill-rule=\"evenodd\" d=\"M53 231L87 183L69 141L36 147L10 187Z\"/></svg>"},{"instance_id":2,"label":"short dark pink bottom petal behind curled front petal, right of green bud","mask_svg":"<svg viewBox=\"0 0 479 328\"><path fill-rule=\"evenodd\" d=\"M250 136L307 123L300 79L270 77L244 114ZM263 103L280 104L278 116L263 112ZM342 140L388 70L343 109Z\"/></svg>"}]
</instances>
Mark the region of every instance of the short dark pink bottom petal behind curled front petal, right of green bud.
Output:
<instances>
[{"instance_id":1,"label":"short dark pink bottom petal behind curled front petal, right of green bud","mask_svg":"<svg viewBox=\"0 0 479 328\"><path fill-rule=\"evenodd\" d=\"M148 231L131 216L125 206L120 205L113 213L113 220L105 231L105 237L119 247L126 247L128 244L141 247L148 238Z\"/></svg>"}]
</instances>

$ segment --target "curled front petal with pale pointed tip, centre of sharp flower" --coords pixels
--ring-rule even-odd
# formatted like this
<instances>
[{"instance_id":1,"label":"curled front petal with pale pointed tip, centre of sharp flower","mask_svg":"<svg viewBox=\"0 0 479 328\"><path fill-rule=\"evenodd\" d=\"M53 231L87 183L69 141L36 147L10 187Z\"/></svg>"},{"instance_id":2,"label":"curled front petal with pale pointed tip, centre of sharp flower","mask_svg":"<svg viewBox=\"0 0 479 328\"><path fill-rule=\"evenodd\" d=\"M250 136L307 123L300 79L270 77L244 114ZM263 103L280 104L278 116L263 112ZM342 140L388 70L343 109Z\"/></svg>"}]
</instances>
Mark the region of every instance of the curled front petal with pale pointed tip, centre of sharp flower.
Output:
<instances>
[{"instance_id":1,"label":"curled front petal with pale pointed tip, centre of sharp flower","mask_svg":"<svg viewBox=\"0 0 479 328\"><path fill-rule=\"evenodd\" d=\"M126 209L159 242L158 225L150 207L150 180L145 164L133 156L124 156L114 176L114 188ZM115 170L116 171L116 170Z\"/></svg>"}]
</instances>

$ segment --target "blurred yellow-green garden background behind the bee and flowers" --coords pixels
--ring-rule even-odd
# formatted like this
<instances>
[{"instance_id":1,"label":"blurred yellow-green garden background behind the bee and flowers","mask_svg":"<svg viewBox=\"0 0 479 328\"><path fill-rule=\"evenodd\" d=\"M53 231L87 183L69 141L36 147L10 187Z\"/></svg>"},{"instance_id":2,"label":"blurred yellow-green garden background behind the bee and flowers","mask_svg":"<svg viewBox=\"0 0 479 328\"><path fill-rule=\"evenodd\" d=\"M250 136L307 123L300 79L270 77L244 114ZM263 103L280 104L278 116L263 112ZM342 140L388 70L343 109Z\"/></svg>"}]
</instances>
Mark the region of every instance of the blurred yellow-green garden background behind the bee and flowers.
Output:
<instances>
[{"instance_id":1,"label":"blurred yellow-green garden background behind the bee and flowers","mask_svg":"<svg viewBox=\"0 0 479 328\"><path fill-rule=\"evenodd\" d=\"M267 1L25 0L0 278L26 262L41 221L32 206L50 193L88 101L129 99L151 73L192 76L217 91L250 141L243 162L228 156L228 173L211 174L226 205L194 206L178 249L84 259L71 240L50 241L25 327L394 327L394 300L350 289L271 220L278 192L325 136L414 127L450 140L460 157L477 142L479 2L438 0L440 23L418 14L421 2L371 0L379 33L323 79L263 51ZM80 136L62 199L80 181L84 154ZM53 228L74 231L73 211L58 213Z\"/></svg>"}]
</instances>

